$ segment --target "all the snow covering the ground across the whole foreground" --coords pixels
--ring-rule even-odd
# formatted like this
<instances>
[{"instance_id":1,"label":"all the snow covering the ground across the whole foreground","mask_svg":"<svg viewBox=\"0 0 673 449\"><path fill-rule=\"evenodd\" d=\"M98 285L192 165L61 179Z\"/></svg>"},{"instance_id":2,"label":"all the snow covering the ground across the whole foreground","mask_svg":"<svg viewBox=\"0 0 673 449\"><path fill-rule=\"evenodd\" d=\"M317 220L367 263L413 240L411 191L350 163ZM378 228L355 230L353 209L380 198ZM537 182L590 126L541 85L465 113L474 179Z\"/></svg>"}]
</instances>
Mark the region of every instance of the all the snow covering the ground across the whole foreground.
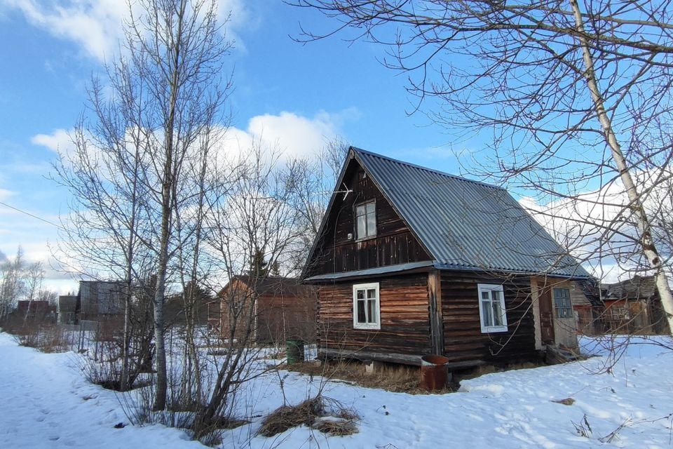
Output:
<instances>
[{"instance_id":1,"label":"all the snow covering the ground across the whole foreground","mask_svg":"<svg viewBox=\"0 0 673 449\"><path fill-rule=\"evenodd\" d=\"M597 352L591 340L585 347ZM610 373L606 357L467 380L461 391L409 395L330 382L325 396L361 416L358 434L326 438L305 427L254 436L283 403L275 374L245 387L240 413L252 424L224 434L225 448L671 448L673 354L639 340ZM589 350L589 349L587 349ZM112 391L88 384L76 354L41 354L0 333L0 448L198 448L178 429L115 429L128 422ZM318 379L281 372L298 403ZM572 405L552 401L573 398ZM586 415L586 420L584 419ZM582 426L578 435L576 426ZM588 429L590 427L590 430Z\"/></svg>"}]
</instances>

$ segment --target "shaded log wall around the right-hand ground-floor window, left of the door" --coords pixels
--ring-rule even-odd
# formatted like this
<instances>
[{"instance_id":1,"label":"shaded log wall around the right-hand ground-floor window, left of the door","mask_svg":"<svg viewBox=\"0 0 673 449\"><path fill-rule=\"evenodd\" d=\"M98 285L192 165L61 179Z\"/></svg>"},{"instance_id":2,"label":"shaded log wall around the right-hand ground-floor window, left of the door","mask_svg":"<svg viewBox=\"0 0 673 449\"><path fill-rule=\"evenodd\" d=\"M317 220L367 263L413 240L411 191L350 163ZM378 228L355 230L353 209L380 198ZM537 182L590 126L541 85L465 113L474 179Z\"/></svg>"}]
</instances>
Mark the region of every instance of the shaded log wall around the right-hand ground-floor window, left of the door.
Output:
<instances>
[{"instance_id":1,"label":"shaded log wall around the right-hand ground-floor window, left of the door","mask_svg":"<svg viewBox=\"0 0 673 449\"><path fill-rule=\"evenodd\" d=\"M535 358L530 278L504 280L487 274L444 271L441 279L444 355L451 362L511 363ZM478 283L503 285L507 332L482 333Z\"/></svg>"}]
</instances>

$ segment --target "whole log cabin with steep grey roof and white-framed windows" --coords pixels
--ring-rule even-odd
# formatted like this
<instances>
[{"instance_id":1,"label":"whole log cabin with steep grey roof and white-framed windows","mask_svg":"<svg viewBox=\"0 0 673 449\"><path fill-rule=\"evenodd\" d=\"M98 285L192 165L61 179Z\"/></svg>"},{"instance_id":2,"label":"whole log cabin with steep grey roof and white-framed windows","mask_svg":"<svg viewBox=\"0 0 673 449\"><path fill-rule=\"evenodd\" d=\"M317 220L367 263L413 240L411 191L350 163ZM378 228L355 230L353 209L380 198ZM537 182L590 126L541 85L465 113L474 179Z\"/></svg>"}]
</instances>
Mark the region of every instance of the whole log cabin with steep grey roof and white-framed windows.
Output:
<instances>
[{"instance_id":1,"label":"whole log cabin with steep grey roof and white-framed windows","mask_svg":"<svg viewBox=\"0 0 673 449\"><path fill-rule=\"evenodd\" d=\"M351 147L302 273L321 357L453 368L577 344L589 274L504 189Z\"/></svg>"}]
</instances>

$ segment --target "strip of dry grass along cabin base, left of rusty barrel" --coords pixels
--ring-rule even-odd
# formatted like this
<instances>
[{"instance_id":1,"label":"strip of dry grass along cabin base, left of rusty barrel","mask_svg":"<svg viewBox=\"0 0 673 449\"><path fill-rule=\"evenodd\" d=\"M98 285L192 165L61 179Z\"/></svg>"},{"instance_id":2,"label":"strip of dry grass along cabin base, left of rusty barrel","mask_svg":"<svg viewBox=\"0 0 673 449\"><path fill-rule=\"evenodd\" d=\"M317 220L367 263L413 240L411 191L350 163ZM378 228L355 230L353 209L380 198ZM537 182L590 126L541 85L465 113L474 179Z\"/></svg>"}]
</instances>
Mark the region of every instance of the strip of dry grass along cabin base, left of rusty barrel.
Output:
<instances>
[{"instance_id":1,"label":"strip of dry grass along cabin base, left of rusty barrel","mask_svg":"<svg viewBox=\"0 0 673 449\"><path fill-rule=\"evenodd\" d=\"M428 394L421 389L421 373L417 366L385 365L374 374L365 373L365 365L358 361L333 361L332 363L295 363L281 366L284 370L295 371L310 376L322 376L332 380L352 382L360 387L380 388L395 393ZM433 391L434 394L450 393L454 386L442 391Z\"/></svg>"}]
</instances>

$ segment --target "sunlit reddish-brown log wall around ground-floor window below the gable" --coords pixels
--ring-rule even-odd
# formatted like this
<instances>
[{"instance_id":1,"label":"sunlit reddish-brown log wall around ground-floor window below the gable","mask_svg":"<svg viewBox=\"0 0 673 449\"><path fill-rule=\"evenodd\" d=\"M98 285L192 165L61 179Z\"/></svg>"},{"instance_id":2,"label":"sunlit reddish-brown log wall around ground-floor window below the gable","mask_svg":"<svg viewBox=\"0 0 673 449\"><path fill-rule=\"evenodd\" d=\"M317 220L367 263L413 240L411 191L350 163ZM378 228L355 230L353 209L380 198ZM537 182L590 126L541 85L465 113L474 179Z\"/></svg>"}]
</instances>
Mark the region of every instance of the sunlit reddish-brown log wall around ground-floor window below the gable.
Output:
<instances>
[{"instance_id":1,"label":"sunlit reddish-brown log wall around ground-floor window below the gable","mask_svg":"<svg viewBox=\"0 0 673 449\"><path fill-rule=\"evenodd\" d=\"M320 349L430 354L428 276L409 274L379 282L381 330L353 328L353 285L341 282L320 287L318 344Z\"/></svg>"}]
</instances>

